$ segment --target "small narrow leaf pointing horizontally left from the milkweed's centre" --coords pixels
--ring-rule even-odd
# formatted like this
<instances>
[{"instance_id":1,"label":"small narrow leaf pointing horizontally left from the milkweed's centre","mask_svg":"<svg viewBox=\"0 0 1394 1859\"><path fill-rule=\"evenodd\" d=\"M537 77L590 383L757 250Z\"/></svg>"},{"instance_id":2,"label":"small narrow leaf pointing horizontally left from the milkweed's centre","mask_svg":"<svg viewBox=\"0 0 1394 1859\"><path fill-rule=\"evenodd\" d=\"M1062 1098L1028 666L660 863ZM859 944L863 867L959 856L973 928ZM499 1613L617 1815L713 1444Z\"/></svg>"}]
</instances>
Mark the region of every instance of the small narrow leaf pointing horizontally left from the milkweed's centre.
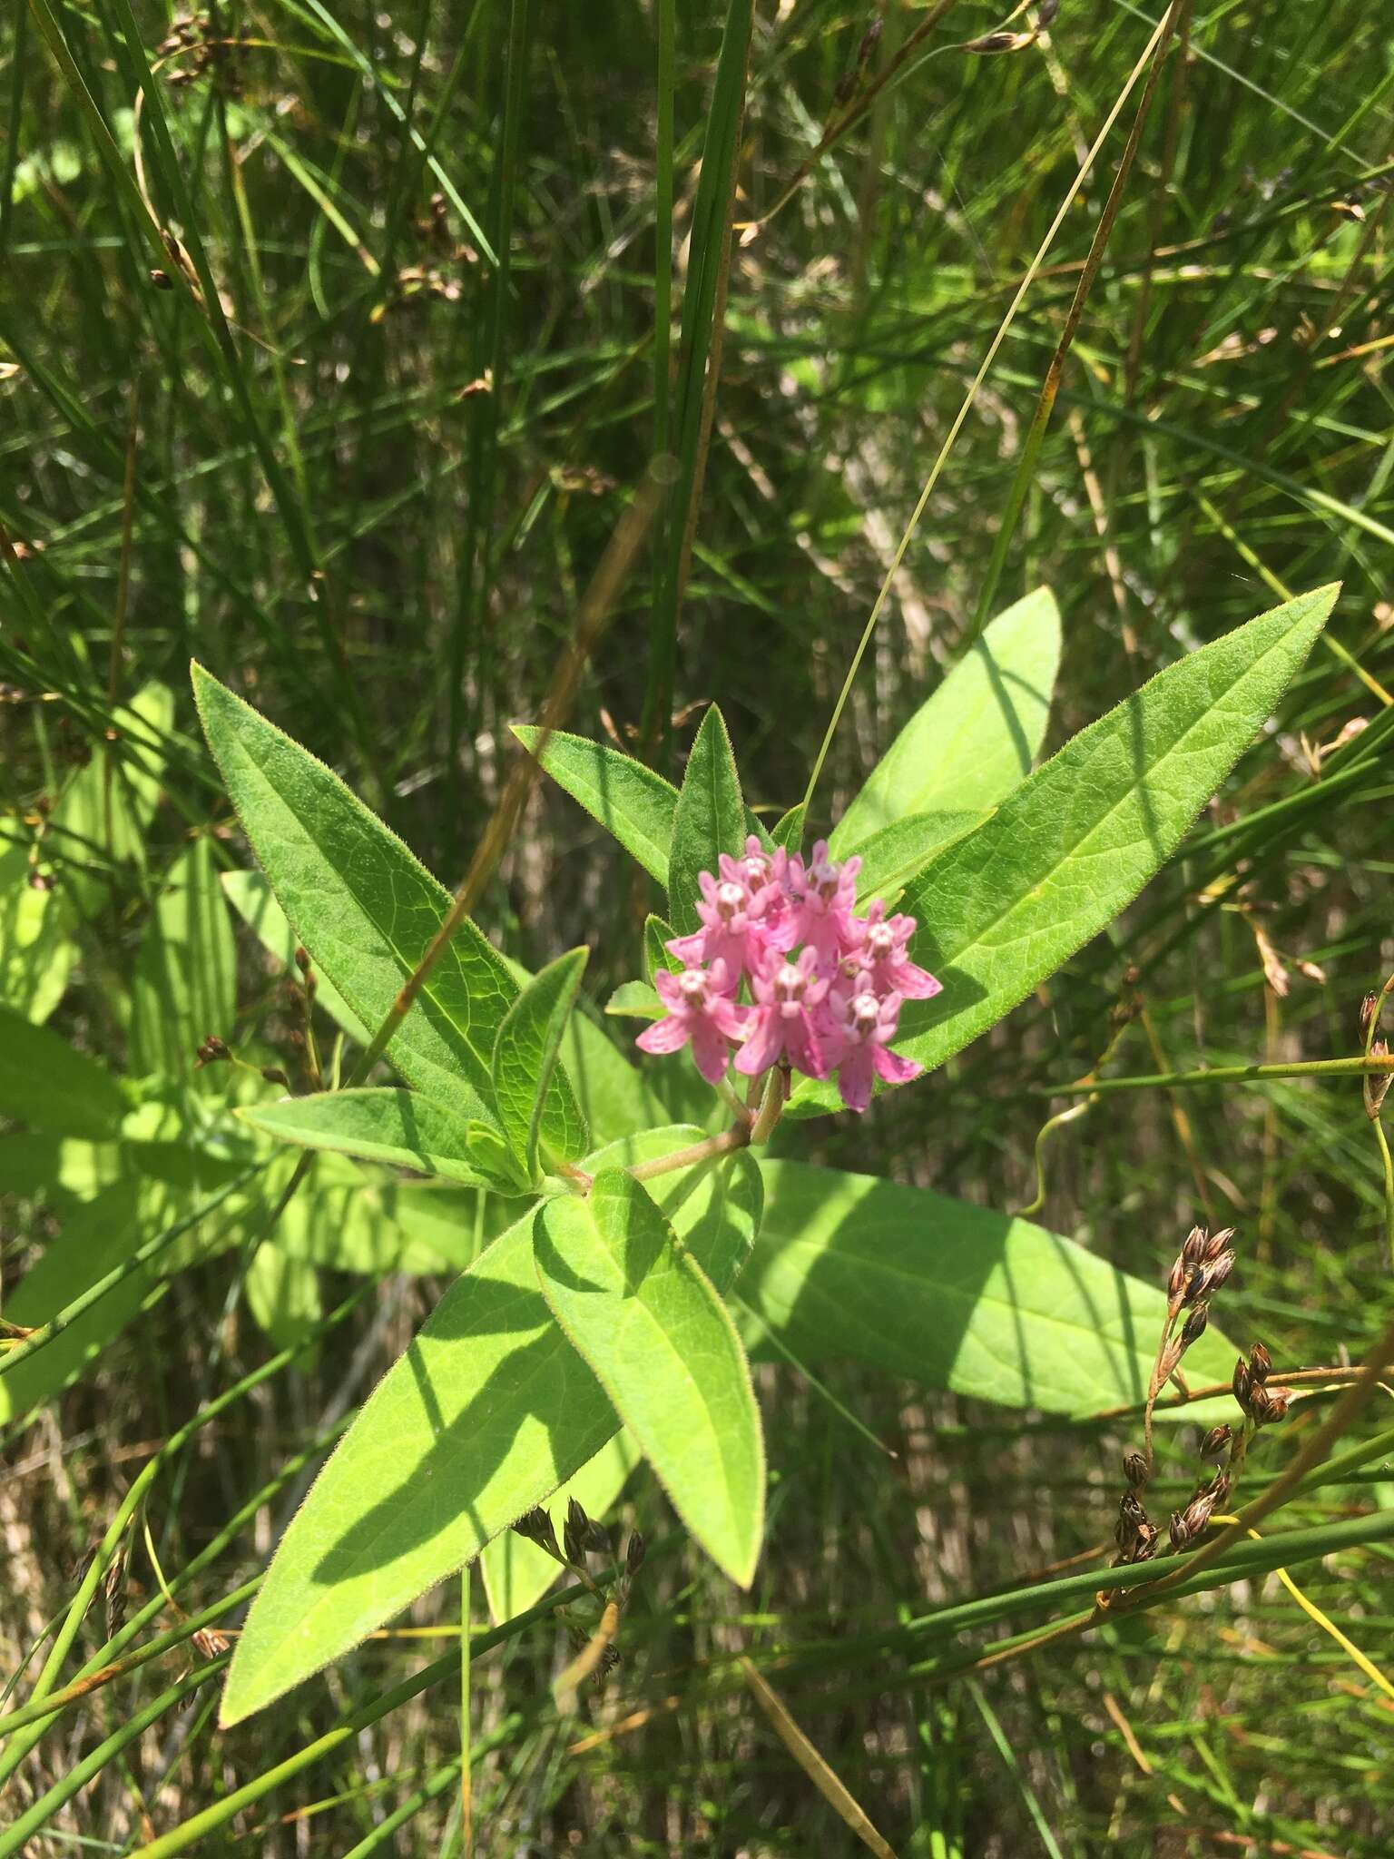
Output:
<instances>
[{"instance_id":1,"label":"small narrow leaf pointing horizontally left from the milkweed's centre","mask_svg":"<svg viewBox=\"0 0 1394 1859\"><path fill-rule=\"evenodd\" d=\"M422 1091L355 1089L245 1104L238 1115L255 1130L301 1149L331 1149L364 1162L487 1186L487 1177L470 1162L468 1125L489 1114L465 1086L455 1088L452 1106L437 1104Z\"/></svg>"}]
</instances>

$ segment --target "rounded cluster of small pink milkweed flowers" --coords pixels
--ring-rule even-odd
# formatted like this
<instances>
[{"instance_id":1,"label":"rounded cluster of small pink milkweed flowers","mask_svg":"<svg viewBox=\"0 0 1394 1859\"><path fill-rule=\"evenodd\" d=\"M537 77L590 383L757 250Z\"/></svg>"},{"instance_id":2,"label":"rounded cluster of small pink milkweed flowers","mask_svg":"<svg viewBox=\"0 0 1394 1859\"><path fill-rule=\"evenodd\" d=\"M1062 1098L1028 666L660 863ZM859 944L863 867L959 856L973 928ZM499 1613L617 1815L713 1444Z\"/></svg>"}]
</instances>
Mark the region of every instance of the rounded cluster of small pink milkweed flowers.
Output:
<instances>
[{"instance_id":1,"label":"rounded cluster of small pink milkweed flowers","mask_svg":"<svg viewBox=\"0 0 1394 1859\"><path fill-rule=\"evenodd\" d=\"M781 1060L809 1078L836 1073L849 1110L866 1110L874 1078L916 1078L922 1067L890 1041L901 1002L929 1000L940 983L907 956L913 916L887 916L881 902L853 915L859 870L861 859L833 864L827 840L807 864L764 851L755 835L742 859L721 853L721 876L699 877L701 930L667 944L682 972L654 974L667 1011L639 1034L643 1050L691 1043L708 1084L725 1076L732 1050L736 1071L753 1078Z\"/></svg>"}]
</instances>

